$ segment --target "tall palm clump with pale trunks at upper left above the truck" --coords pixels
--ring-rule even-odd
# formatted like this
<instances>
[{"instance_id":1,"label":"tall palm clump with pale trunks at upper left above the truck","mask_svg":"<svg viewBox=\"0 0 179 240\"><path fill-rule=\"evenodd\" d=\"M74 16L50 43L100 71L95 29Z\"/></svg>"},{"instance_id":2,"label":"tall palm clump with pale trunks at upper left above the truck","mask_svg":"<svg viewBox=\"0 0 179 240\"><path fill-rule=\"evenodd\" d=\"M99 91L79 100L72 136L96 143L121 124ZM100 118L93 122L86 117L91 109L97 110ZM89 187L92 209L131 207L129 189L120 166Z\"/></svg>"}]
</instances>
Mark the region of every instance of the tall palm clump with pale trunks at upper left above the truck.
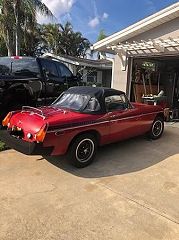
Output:
<instances>
[{"instance_id":1,"label":"tall palm clump with pale trunks at upper left above the truck","mask_svg":"<svg viewBox=\"0 0 179 240\"><path fill-rule=\"evenodd\" d=\"M5 38L8 54L12 55L15 39L16 55L20 53L20 34L26 24L27 16L31 22L36 22L37 12L53 17L52 12L41 0L0 0L1 32ZM15 23L15 24L14 24Z\"/></svg>"}]
</instances>

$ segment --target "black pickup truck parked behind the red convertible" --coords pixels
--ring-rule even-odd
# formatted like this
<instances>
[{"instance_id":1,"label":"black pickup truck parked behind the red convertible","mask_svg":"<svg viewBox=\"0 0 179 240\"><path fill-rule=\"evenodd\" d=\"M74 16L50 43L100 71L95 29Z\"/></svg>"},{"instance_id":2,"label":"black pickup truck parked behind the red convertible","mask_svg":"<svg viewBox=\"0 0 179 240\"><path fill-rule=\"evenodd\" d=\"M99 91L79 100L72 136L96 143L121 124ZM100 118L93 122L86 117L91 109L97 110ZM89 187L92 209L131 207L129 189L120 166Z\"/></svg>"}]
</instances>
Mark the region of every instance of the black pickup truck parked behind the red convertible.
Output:
<instances>
[{"instance_id":1,"label":"black pickup truck parked behind the red convertible","mask_svg":"<svg viewBox=\"0 0 179 240\"><path fill-rule=\"evenodd\" d=\"M48 105L80 84L69 68L43 57L0 57L0 120L23 105Z\"/></svg>"}]
</instances>

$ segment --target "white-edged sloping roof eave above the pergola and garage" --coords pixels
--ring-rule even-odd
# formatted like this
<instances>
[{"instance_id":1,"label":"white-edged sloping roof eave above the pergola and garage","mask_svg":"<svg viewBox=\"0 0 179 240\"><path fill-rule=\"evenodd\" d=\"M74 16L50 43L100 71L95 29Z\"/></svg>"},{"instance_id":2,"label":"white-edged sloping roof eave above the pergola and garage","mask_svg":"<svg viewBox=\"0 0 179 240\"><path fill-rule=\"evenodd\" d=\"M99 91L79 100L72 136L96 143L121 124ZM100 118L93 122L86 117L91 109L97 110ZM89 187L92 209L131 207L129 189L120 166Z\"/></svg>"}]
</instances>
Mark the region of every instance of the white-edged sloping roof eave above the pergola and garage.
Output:
<instances>
[{"instance_id":1,"label":"white-edged sloping roof eave above the pergola and garage","mask_svg":"<svg viewBox=\"0 0 179 240\"><path fill-rule=\"evenodd\" d=\"M91 47L93 50L108 51L106 49L109 45L116 45L127 41L128 39L135 37L141 33L144 33L152 28L158 27L163 23L169 22L179 17L179 2L170 5L169 7L119 31L109 37L96 42Z\"/></svg>"}]
</instances>

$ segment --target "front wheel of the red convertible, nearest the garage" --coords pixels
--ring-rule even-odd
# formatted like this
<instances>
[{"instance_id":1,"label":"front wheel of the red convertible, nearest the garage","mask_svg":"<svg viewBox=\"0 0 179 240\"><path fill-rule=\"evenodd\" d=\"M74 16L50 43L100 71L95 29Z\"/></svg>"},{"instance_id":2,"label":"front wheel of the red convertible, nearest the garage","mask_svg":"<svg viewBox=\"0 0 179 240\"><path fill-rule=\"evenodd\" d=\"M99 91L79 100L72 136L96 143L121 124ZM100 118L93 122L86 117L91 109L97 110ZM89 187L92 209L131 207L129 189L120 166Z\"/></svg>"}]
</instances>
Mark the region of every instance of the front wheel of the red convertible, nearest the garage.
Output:
<instances>
[{"instance_id":1,"label":"front wheel of the red convertible, nearest the garage","mask_svg":"<svg viewBox=\"0 0 179 240\"><path fill-rule=\"evenodd\" d=\"M164 130L164 119L161 117L156 117L152 123L151 129L148 133L150 139L156 140L159 139Z\"/></svg>"}]
</instances>

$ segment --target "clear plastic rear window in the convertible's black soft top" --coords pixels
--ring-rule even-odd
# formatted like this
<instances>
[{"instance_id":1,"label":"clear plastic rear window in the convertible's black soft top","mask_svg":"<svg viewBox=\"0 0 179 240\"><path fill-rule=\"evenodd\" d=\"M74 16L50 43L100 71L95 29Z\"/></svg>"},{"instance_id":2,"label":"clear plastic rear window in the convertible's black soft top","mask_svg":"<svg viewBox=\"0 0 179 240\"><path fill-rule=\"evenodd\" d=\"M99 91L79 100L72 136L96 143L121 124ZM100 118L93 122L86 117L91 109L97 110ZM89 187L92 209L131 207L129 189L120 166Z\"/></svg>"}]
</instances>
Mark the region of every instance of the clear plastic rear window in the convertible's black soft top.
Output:
<instances>
[{"instance_id":1,"label":"clear plastic rear window in the convertible's black soft top","mask_svg":"<svg viewBox=\"0 0 179 240\"><path fill-rule=\"evenodd\" d=\"M67 108L79 111L89 101L89 96L80 94L65 93L53 104L56 107Z\"/></svg>"}]
</instances>

